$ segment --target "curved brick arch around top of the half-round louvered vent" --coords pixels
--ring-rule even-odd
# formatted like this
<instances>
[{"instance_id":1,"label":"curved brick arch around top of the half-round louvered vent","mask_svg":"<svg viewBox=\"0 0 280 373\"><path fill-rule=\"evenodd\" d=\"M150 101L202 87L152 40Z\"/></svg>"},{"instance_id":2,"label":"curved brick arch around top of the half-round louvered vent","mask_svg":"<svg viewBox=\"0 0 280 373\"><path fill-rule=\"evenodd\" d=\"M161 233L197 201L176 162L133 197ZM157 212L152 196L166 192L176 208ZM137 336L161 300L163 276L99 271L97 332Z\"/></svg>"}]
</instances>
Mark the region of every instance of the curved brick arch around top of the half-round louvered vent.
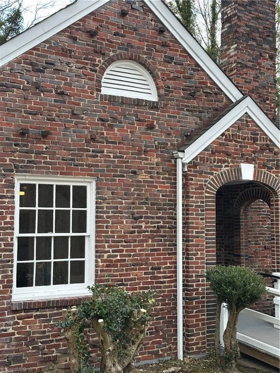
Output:
<instances>
[{"instance_id":1,"label":"curved brick arch around top of the half-round louvered vent","mask_svg":"<svg viewBox=\"0 0 280 373\"><path fill-rule=\"evenodd\" d=\"M144 58L143 56L140 56L137 53L130 53L130 52L120 52L111 55L108 57L100 66L98 72L96 73L96 90L97 92L101 93L101 83L102 83L102 78L103 75L106 71L106 69L116 61L121 61L121 60L131 60L134 62L139 63L140 65L143 66L149 73L152 75L152 78L154 79L155 85L157 87L157 96L159 98L164 97L164 85L161 81L161 77L159 73L157 72L157 68L151 64L151 62Z\"/></svg>"}]
</instances>

